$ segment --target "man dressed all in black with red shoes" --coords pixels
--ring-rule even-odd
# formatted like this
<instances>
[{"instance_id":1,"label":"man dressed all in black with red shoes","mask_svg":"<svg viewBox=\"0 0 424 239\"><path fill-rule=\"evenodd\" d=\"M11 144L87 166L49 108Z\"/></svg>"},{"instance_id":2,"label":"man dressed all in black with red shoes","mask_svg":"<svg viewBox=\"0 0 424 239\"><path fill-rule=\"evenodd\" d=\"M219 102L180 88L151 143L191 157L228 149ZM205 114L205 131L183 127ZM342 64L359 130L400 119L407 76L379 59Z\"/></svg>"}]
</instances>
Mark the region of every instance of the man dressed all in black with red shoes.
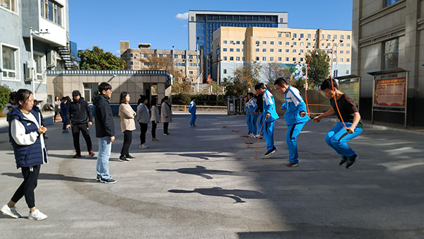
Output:
<instances>
[{"instance_id":1,"label":"man dressed all in black with red shoes","mask_svg":"<svg viewBox=\"0 0 424 239\"><path fill-rule=\"evenodd\" d=\"M93 124L93 115L91 114L90 106L86 100L81 99L81 93L79 91L72 91L72 103L69 104L68 114L66 115L66 129L71 128L72 124L72 136L73 136L73 147L75 148L75 155L73 158L81 158L81 148L79 146L79 133L83 133L84 139L86 139L88 156L94 156L93 146L91 144L90 132L88 131L88 125Z\"/></svg>"}]
</instances>

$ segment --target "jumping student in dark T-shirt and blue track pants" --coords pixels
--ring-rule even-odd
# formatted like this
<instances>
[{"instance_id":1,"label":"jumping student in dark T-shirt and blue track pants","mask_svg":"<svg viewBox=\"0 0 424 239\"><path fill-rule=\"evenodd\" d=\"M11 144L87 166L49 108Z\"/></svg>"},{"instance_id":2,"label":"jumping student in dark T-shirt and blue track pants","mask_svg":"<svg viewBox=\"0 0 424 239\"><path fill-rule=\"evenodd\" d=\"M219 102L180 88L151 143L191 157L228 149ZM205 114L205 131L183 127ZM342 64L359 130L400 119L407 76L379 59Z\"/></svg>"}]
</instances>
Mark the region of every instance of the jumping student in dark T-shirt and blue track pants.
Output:
<instances>
[{"instance_id":1,"label":"jumping student in dark T-shirt and blue track pants","mask_svg":"<svg viewBox=\"0 0 424 239\"><path fill-rule=\"evenodd\" d=\"M355 151L348 146L347 142L363 132L363 122L362 119L360 119L358 108L355 103L353 103L353 100L349 95L338 90L336 81L332 81L331 84L331 79L327 78L321 85L321 90L324 91L324 94L330 100L331 109L327 110L327 112L322 115L314 117L312 121L319 122L320 119L325 117L334 114L337 115L340 122L337 122L336 126L330 129L326 134L325 141L341 156L341 161L338 165L346 163L346 168L352 168L353 165L358 162L359 157L356 155ZM336 102L334 102L334 98L336 98ZM340 114L338 111L340 111Z\"/></svg>"}]
</instances>

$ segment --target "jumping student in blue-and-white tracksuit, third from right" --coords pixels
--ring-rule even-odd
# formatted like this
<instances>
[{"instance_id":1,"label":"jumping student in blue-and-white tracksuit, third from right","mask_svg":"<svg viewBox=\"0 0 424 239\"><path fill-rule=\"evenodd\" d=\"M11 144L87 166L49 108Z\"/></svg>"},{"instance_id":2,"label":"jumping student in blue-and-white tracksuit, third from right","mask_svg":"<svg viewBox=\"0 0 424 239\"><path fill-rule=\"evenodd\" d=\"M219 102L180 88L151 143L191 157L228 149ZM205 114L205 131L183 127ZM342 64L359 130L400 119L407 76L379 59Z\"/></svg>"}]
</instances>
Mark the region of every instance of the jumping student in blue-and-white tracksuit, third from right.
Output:
<instances>
[{"instance_id":1,"label":"jumping student in blue-and-white tracksuit, third from right","mask_svg":"<svg viewBox=\"0 0 424 239\"><path fill-rule=\"evenodd\" d=\"M276 112L276 101L273 98L272 93L266 88L264 83L259 83L255 86L255 90L262 93L262 100L264 100L264 112L262 115L264 117L264 136L266 141L266 153L265 156L269 156L272 153L277 151L276 146L273 142L273 127L278 119Z\"/></svg>"}]
</instances>

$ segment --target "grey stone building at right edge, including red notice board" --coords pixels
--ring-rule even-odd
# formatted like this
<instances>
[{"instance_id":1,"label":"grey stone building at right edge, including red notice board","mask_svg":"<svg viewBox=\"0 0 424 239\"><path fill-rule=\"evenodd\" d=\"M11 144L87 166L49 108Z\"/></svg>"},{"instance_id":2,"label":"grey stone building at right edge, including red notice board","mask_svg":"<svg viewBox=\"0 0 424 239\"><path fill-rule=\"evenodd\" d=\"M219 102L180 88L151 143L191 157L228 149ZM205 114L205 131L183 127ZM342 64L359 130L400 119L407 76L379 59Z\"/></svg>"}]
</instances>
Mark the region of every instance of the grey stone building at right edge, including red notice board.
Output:
<instances>
[{"instance_id":1,"label":"grey stone building at right edge, including red notice board","mask_svg":"<svg viewBox=\"0 0 424 239\"><path fill-rule=\"evenodd\" d=\"M353 1L352 73L364 119L424 126L423 9L418 0Z\"/></svg>"}]
</instances>

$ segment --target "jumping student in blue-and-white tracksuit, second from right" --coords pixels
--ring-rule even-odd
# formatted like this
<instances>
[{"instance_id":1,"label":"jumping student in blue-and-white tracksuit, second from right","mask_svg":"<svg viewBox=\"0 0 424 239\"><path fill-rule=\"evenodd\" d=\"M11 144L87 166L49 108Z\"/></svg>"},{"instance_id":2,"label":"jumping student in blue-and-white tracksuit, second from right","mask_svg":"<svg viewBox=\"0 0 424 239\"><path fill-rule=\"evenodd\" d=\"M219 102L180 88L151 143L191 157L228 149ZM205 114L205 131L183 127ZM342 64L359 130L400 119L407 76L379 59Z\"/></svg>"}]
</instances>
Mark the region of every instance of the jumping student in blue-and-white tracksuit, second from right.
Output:
<instances>
[{"instance_id":1,"label":"jumping student in blue-and-white tracksuit, second from right","mask_svg":"<svg viewBox=\"0 0 424 239\"><path fill-rule=\"evenodd\" d=\"M284 94L284 104L281 106L285 110L284 119L287 124L287 134L285 141L288 146L288 159L289 162L285 165L287 167L297 167L298 161L298 135L305 126L306 122L310 120L307 115L306 105L302 99L302 95L297 88L288 84L285 78L277 78L274 83L276 90Z\"/></svg>"}]
</instances>

